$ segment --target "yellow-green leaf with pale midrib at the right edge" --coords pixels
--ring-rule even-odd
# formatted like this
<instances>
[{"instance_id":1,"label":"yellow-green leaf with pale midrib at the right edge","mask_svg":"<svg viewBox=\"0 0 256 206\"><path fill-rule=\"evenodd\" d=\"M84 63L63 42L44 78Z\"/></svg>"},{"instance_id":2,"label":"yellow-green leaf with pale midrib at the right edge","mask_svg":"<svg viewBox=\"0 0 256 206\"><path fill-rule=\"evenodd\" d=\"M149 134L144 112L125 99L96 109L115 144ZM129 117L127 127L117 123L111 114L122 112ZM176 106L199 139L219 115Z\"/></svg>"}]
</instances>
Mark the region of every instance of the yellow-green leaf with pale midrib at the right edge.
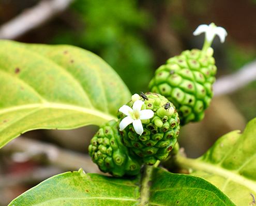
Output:
<instances>
[{"instance_id":1,"label":"yellow-green leaf with pale midrib at the right edge","mask_svg":"<svg viewBox=\"0 0 256 206\"><path fill-rule=\"evenodd\" d=\"M201 158L178 156L177 162L192 169L191 175L216 185L237 205L252 204L256 196L256 118L244 133L232 131L222 136Z\"/></svg>"}]
</instances>

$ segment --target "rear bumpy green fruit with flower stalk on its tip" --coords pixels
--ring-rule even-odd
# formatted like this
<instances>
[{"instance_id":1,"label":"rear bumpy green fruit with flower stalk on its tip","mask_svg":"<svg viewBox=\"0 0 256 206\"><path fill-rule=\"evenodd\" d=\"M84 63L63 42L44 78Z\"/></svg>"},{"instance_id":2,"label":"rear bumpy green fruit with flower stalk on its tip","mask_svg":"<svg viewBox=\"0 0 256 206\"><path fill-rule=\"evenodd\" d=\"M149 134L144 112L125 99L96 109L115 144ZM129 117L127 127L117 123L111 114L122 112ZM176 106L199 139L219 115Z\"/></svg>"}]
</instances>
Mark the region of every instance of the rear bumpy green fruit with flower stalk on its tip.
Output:
<instances>
[{"instance_id":1,"label":"rear bumpy green fruit with flower stalk on its tip","mask_svg":"<svg viewBox=\"0 0 256 206\"><path fill-rule=\"evenodd\" d=\"M180 125L199 122L212 100L216 71L212 56L199 49L186 50L156 70L149 88L173 102Z\"/></svg>"}]
</instances>

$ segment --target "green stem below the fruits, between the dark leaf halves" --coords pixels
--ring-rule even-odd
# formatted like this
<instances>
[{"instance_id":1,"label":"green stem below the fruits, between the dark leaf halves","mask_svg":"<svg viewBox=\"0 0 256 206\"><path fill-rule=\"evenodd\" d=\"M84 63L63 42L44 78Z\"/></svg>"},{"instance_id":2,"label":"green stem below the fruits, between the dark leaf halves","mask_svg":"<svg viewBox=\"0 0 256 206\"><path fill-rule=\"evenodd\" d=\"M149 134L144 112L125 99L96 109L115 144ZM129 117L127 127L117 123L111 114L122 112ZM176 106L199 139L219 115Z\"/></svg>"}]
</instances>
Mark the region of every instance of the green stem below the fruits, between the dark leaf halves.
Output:
<instances>
[{"instance_id":1,"label":"green stem below the fruits, between the dark leaf halves","mask_svg":"<svg viewBox=\"0 0 256 206\"><path fill-rule=\"evenodd\" d=\"M140 206L146 206L149 203L148 199L149 199L150 179L152 177L154 168L155 168L155 165L153 165L153 166L145 165L145 170L144 170L144 173L143 173L143 176L142 176L142 183L141 183Z\"/></svg>"}]
</instances>

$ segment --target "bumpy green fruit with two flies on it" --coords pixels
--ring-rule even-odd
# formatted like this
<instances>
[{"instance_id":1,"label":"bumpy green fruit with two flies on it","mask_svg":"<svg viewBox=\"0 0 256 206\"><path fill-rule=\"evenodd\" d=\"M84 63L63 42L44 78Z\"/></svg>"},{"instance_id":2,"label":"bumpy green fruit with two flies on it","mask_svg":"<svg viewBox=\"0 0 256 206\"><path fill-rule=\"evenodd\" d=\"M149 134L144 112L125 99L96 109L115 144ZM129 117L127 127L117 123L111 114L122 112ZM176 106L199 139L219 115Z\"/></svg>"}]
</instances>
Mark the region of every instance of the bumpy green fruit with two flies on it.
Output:
<instances>
[{"instance_id":1,"label":"bumpy green fruit with two flies on it","mask_svg":"<svg viewBox=\"0 0 256 206\"><path fill-rule=\"evenodd\" d=\"M127 147L141 157L144 163L153 165L157 160L161 161L167 158L176 144L179 133L179 118L175 106L167 98L150 92L145 93L145 95L148 100L144 99L145 103L141 110L153 110L154 116L141 121L143 126L142 135L135 132L132 124L120 133ZM133 101L129 101L127 105L132 108L133 103ZM126 117L121 112L117 116L119 117L118 123Z\"/></svg>"}]
</instances>

